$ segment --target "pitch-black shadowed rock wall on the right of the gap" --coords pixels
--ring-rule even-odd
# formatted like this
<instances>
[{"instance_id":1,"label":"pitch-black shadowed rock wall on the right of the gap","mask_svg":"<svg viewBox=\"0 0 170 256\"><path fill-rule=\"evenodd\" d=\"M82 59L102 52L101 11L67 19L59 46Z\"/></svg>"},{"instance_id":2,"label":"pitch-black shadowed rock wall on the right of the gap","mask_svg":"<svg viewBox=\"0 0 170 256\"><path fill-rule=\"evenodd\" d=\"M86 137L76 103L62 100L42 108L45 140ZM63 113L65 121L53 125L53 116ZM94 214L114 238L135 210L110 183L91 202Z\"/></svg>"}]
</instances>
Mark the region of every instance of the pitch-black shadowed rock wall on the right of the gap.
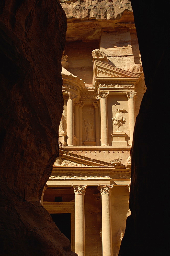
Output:
<instances>
[{"instance_id":1,"label":"pitch-black shadowed rock wall on the right of the gap","mask_svg":"<svg viewBox=\"0 0 170 256\"><path fill-rule=\"evenodd\" d=\"M165 199L165 176L161 159L167 163L165 107L168 83L165 82L163 5L155 1L131 0L138 35L142 66L147 87L136 119L131 150L131 215L127 219L126 231L119 256L163 255L166 237L163 232ZM164 23L165 24L165 23ZM168 52L168 51L166 51ZM161 88L163 90L161 90ZM167 115L168 116L168 113ZM164 243L163 243L164 240ZM166 253L165 253L166 254Z\"/></svg>"}]
</instances>

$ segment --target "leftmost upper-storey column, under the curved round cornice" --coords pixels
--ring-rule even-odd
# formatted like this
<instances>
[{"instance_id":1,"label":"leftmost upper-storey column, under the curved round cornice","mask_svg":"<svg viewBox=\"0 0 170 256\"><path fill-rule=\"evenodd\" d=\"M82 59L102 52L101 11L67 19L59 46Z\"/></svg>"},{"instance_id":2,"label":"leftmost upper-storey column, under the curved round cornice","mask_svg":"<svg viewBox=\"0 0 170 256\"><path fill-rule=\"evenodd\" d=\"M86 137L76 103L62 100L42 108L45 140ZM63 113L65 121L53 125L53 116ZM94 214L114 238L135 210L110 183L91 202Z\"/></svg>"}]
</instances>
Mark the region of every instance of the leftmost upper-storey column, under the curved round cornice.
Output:
<instances>
[{"instance_id":1,"label":"leftmost upper-storey column, under the curved round cornice","mask_svg":"<svg viewBox=\"0 0 170 256\"><path fill-rule=\"evenodd\" d=\"M69 92L69 99L67 101L67 145L74 146L74 117L73 117L73 102L77 98L76 95Z\"/></svg>"}]
</instances>

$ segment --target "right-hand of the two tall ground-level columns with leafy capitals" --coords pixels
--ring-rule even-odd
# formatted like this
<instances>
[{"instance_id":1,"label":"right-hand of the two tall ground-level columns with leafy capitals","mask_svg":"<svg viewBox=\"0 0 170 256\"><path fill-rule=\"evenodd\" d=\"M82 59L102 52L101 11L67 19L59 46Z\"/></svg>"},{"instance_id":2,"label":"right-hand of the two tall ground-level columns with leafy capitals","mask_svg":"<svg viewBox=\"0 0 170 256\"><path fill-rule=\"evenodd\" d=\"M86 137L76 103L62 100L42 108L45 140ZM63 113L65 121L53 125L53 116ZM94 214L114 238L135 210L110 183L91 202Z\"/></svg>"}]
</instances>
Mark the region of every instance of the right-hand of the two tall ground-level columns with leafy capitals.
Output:
<instances>
[{"instance_id":1,"label":"right-hand of the two tall ground-level columns with leafy capitals","mask_svg":"<svg viewBox=\"0 0 170 256\"><path fill-rule=\"evenodd\" d=\"M103 256L112 256L112 232L111 232L111 204L110 194L112 186L99 185L101 193L102 215L102 250Z\"/></svg>"}]
</instances>

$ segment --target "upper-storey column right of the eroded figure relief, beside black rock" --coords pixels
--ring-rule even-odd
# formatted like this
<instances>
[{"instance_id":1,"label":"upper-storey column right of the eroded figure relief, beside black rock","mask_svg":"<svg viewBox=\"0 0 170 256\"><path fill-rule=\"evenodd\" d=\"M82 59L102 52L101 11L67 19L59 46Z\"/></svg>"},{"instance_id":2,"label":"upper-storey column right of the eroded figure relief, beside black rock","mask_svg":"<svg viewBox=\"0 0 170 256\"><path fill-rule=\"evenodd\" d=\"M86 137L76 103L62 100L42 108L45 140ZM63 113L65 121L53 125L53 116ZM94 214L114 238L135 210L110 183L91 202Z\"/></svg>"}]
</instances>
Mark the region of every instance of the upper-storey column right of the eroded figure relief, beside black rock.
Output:
<instances>
[{"instance_id":1,"label":"upper-storey column right of the eroded figure relief, beside black rock","mask_svg":"<svg viewBox=\"0 0 170 256\"><path fill-rule=\"evenodd\" d=\"M135 125L135 103L134 99L136 96L136 92L126 92L128 97L128 107L129 107L129 132L130 132L130 146L132 146L133 142L133 131L134 131L134 125Z\"/></svg>"}]
</instances>

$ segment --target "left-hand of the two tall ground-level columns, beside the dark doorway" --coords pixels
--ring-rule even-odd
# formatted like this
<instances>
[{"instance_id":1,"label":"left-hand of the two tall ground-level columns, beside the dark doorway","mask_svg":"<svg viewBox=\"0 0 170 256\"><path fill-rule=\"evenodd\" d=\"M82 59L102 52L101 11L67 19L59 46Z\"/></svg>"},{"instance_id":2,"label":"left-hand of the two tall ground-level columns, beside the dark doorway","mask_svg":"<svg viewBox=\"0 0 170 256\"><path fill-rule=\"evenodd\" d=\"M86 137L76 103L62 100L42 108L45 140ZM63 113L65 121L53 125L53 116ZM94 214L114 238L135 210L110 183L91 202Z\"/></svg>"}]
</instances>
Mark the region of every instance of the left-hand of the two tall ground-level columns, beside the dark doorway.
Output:
<instances>
[{"instance_id":1,"label":"left-hand of the two tall ground-level columns, beside the dark doorway","mask_svg":"<svg viewBox=\"0 0 170 256\"><path fill-rule=\"evenodd\" d=\"M87 186L75 186L75 253L85 256L84 194Z\"/></svg>"}]
</instances>

